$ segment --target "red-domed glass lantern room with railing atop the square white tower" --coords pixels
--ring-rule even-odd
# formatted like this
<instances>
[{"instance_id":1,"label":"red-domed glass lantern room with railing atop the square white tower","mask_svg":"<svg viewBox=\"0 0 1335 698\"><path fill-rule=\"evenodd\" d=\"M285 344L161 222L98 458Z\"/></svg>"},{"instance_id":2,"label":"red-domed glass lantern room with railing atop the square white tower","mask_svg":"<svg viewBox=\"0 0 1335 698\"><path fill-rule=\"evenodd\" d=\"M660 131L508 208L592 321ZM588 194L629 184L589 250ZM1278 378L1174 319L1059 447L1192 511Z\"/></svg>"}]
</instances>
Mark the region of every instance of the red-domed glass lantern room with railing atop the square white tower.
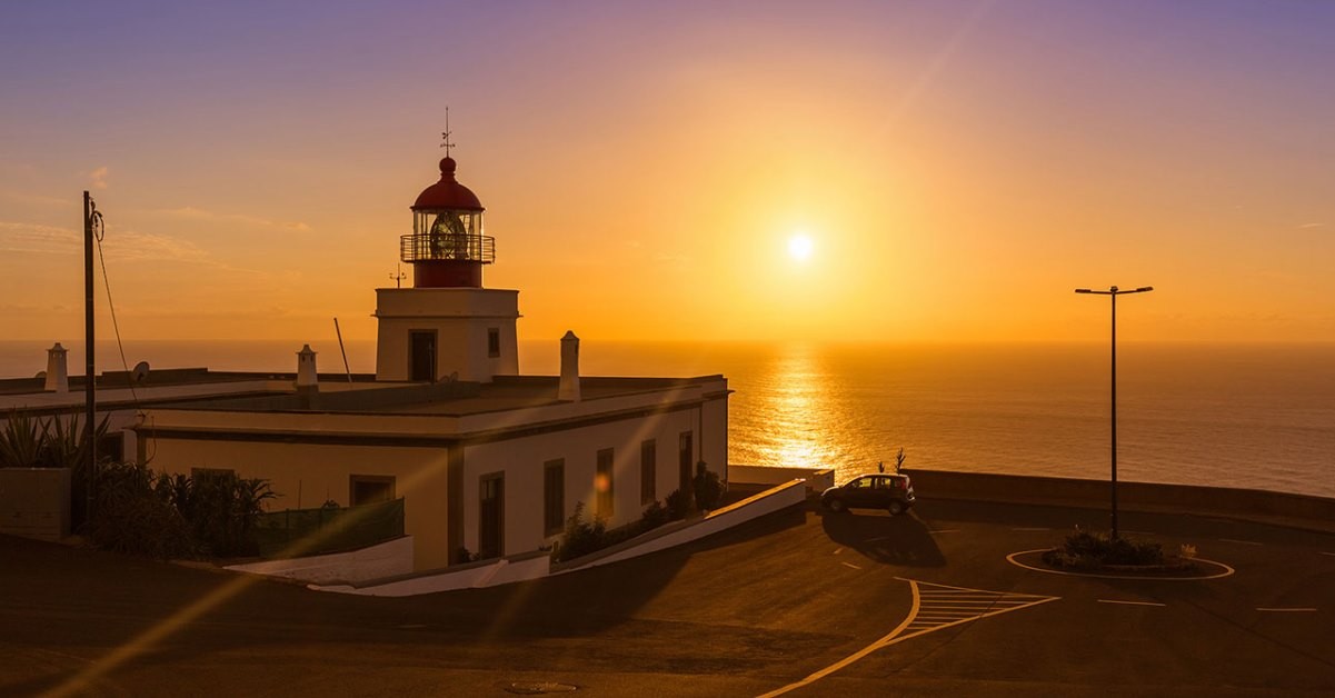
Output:
<instances>
[{"instance_id":1,"label":"red-domed glass lantern room with railing atop the square white tower","mask_svg":"<svg viewBox=\"0 0 1335 698\"><path fill-rule=\"evenodd\" d=\"M482 288L482 266L495 262L495 239L482 234L482 203L441 160L441 180L413 204L413 235L399 238L399 259L413 264L414 288Z\"/></svg>"}]
</instances>

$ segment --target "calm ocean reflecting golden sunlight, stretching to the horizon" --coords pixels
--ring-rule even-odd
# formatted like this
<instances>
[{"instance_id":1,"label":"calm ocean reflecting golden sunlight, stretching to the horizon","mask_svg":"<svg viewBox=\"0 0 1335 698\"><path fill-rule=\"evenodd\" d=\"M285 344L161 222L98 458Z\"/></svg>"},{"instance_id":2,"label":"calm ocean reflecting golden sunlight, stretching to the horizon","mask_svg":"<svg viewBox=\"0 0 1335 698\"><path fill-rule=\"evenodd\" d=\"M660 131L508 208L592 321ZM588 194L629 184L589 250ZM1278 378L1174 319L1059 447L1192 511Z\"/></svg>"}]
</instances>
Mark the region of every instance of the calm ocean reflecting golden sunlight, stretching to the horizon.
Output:
<instances>
[{"instance_id":1,"label":"calm ocean reflecting golden sunlight, stretching to the horizon","mask_svg":"<svg viewBox=\"0 0 1335 698\"><path fill-rule=\"evenodd\" d=\"M79 346L69 368L80 374ZM77 344L77 343L73 343ZM0 376L45 368L43 342L0 342ZM300 342L138 342L154 367L295 371ZM336 342L312 343L322 372ZM348 342L354 372L374 342ZM119 370L99 343L99 371ZM522 342L525 374L554 374L558 342ZM893 467L1107 478L1108 346L804 344L585 340L585 375L724 374L729 460L834 467L838 478ZM1117 351L1121 480L1335 496L1335 344L1124 343Z\"/></svg>"}]
</instances>

